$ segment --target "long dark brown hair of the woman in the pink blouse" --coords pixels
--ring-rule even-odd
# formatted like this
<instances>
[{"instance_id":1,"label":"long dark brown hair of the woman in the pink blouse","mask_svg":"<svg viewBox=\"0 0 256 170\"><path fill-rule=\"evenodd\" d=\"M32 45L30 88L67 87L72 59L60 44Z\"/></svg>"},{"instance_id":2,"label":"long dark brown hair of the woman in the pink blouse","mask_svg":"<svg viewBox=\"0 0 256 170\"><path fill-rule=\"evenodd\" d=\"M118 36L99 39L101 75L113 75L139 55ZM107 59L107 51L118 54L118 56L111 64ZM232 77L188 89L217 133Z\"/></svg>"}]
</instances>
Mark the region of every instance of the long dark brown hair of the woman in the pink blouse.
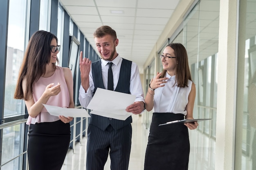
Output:
<instances>
[{"instance_id":1,"label":"long dark brown hair of the woman in the pink blouse","mask_svg":"<svg viewBox=\"0 0 256 170\"><path fill-rule=\"evenodd\" d=\"M36 31L31 36L20 66L18 82L14 94L15 99L28 100L33 95L32 89L34 83L38 81L40 76L45 74L46 65L49 64L51 60L50 44L52 39L56 39L58 44L58 38L47 31ZM52 64L54 68L56 68L56 63ZM22 90L22 81L25 77L27 78L27 85L26 93L24 94Z\"/></svg>"}]
</instances>

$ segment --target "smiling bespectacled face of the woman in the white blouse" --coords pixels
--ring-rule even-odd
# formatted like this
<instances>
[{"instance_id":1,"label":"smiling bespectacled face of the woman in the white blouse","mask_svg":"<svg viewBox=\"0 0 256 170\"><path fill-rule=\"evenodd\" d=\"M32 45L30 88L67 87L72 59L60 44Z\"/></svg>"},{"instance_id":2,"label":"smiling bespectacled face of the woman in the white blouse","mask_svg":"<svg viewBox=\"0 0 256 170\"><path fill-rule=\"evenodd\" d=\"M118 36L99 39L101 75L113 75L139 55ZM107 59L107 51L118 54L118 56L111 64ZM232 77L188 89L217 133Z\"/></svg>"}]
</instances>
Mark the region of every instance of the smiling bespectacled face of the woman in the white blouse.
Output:
<instances>
[{"instance_id":1,"label":"smiling bespectacled face of the woman in the white blouse","mask_svg":"<svg viewBox=\"0 0 256 170\"><path fill-rule=\"evenodd\" d=\"M170 46L167 46L166 48L164 48L162 55L168 56L168 57L176 57L175 51ZM169 75L174 76L176 74L176 66L177 66L176 58L168 58L168 60L164 58L165 57L162 57L161 59L163 64L163 69L167 70Z\"/></svg>"}]
</instances>

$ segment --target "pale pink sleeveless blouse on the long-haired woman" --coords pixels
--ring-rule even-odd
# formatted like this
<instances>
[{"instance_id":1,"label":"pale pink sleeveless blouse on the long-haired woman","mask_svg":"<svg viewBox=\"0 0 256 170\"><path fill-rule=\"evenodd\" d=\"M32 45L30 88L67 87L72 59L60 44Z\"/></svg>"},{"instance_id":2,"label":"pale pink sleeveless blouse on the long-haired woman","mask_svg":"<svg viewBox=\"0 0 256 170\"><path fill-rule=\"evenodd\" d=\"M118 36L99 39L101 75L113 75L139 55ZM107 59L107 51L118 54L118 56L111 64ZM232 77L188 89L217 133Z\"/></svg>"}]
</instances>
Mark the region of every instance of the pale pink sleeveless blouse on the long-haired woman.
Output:
<instances>
[{"instance_id":1,"label":"pale pink sleeveless blouse on the long-haired woman","mask_svg":"<svg viewBox=\"0 0 256 170\"><path fill-rule=\"evenodd\" d=\"M46 105L58 106L58 107L69 107L70 96L67 89L67 83L65 81L65 75L63 68L56 66L54 74L50 77L40 77L39 80L34 84L33 87L33 98L34 101L38 101L42 96L43 92L47 85L54 83L54 86L58 83L61 84L61 92L56 96L51 96L46 103ZM36 124L41 122L54 122L59 120L57 116L50 115L45 107L43 110L36 116L36 118L28 117L26 124Z\"/></svg>"}]
</instances>

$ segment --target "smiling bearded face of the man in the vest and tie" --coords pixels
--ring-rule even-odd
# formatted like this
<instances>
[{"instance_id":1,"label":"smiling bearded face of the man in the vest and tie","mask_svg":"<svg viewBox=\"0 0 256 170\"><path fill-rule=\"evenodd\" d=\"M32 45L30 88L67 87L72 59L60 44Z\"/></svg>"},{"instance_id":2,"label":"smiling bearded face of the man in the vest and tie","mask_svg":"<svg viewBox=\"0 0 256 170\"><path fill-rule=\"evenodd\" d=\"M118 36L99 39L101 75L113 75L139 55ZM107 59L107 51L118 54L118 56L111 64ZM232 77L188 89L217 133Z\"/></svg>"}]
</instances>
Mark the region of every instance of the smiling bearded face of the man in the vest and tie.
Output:
<instances>
[{"instance_id":1,"label":"smiling bearded face of the man in the vest and tie","mask_svg":"<svg viewBox=\"0 0 256 170\"><path fill-rule=\"evenodd\" d=\"M117 57L116 46L118 39L113 39L111 35L94 38L98 52L101 54L103 60L112 61Z\"/></svg>"}]
</instances>

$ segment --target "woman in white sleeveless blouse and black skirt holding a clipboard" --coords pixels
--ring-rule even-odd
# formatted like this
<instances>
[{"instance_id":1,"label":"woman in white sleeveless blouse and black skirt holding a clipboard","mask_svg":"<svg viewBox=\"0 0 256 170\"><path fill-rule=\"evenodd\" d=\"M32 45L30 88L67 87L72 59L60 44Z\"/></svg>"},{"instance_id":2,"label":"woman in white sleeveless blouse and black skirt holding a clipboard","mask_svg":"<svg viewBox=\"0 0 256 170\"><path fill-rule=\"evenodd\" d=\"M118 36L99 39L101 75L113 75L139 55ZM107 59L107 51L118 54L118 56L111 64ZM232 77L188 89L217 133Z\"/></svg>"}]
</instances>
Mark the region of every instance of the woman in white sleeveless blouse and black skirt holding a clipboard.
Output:
<instances>
[{"instance_id":1,"label":"woman in white sleeveless blouse and black skirt holding a clipboard","mask_svg":"<svg viewBox=\"0 0 256 170\"><path fill-rule=\"evenodd\" d=\"M144 170L187 170L189 129L198 122L168 124L174 120L193 119L195 84L191 80L186 49L180 43L166 46L160 59L162 73L150 81L145 98L146 110L153 109Z\"/></svg>"}]
</instances>

